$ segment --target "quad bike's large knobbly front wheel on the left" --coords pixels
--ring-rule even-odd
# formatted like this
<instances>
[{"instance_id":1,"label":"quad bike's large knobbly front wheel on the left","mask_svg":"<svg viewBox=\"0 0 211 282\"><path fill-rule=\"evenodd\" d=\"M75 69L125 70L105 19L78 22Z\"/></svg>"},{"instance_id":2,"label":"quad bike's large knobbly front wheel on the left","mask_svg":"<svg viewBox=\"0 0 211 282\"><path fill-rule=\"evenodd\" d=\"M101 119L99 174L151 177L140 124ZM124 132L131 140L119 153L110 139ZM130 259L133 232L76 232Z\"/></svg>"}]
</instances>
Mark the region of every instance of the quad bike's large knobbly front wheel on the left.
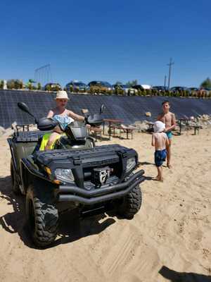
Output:
<instances>
[{"instance_id":1,"label":"quad bike's large knobbly front wheel on the left","mask_svg":"<svg viewBox=\"0 0 211 282\"><path fill-rule=\"evenodd\" d=\"M49 190L38 185L35 182L27 190L27 223L34 244L46 247L53 243L58 233L58 209L51 200Z\"/></svg>"}]
</instances>

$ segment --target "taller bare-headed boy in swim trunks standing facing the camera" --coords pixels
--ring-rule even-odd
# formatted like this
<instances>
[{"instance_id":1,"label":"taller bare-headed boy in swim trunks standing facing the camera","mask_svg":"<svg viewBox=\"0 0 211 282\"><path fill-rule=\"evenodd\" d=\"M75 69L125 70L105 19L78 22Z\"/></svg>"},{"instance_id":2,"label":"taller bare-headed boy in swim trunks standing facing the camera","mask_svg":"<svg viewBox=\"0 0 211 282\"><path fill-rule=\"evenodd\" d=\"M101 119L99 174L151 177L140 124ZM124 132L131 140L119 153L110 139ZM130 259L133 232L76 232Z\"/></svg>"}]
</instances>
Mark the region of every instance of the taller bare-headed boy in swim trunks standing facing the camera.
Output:
<instances>
[{"instance_id":1,"label":"taller bare-headed boy in swim trunks standing facing the camera","mask_svg":"<svg viewBox=\"0 0 211 282\"><path fill-rule=\"evenodd\" d=\"M159 114L158 121L162 121L165 123L165 130L168 139L169 139L169 146L167 146L167 167L172 168L171 165L171 145L172 145L172 129L176 126L176 118L173 113L170 112L170 102L164 101L162 102L162 114Z\"/></svg>"}]
</instances>

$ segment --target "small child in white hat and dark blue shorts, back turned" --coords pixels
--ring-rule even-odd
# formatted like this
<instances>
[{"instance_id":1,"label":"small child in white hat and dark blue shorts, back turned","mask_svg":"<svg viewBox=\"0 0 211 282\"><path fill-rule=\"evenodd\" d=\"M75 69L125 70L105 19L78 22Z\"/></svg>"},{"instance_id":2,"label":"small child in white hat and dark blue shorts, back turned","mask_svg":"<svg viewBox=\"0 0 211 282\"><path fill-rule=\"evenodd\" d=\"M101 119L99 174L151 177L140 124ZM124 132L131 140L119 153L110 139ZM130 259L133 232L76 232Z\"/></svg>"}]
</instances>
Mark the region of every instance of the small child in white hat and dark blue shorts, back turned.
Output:
<instances>
[{"instance_id":1,"label":"small child in white hat and dark blue shorts, back turned","mask_svg":"<svg viewBox=\"0 0 211 282\"><path fill-rule=\"evenodd\" d=\"M153 129L152 146L155 146L155 166L158 169L158 176L153 178L153 180L163 181L162 163L165 161L167 155L166 148L169 145L169 140L167 135L164 133L165 123L162 123L162 121L155 121Z\"/></svg>"}]
</instances>

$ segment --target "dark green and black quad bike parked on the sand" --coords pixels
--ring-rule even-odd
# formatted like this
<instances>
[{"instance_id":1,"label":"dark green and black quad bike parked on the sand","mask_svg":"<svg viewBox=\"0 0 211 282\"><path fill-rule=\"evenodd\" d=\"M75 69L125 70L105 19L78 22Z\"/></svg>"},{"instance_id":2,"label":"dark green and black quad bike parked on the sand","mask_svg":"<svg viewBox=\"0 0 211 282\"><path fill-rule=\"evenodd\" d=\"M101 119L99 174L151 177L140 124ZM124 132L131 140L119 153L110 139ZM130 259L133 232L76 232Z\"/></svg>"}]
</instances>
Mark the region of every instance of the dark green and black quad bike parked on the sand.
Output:
<instances>
[{"instance_id":1,"label":"dark green and black quad bike parked on the sand","mask_svg":"<svg viewBox=\"0 0 211 282\"><path fill-rule=\"evenodd\" d=\"M24 103L18 103L31 116ZM95 146L86 124L100 125L100 114L70 123L54 149L41 151L42 137L58 123L51 118L34 121L37 131L14 130L11 149L13 192L26 197L27 224L34 244L46 247L58 234L62 212L77 209L80 215L101 214L110 209L132 219L141 207L143 170L134 149L120 145ZM27 127L29 129L29 127Z\"/></svg>"}]
</instances>

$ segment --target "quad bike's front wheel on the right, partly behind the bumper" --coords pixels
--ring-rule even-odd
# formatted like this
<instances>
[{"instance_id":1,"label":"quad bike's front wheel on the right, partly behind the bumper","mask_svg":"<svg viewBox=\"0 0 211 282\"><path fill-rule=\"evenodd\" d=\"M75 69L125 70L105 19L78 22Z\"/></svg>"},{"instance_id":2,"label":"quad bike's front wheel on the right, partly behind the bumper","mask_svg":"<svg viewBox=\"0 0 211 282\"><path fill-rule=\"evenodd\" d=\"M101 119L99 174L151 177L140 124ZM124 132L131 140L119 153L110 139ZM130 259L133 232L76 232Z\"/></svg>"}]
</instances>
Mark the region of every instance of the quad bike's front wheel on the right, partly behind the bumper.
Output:
<instances>
[{"instance_id":1,"label":"quad bike's front wheel on the right, partly behind the bumper","mask_svg":"<svg viewBox=\"0 0 211 282\"><path fill-rule=\"evenodd\" d=\"M117 213L125 219L133 219L141 208L141 188L137 185L129 194L124 196L122 204L117 208Z\"/></svg>"}]
</instances>

